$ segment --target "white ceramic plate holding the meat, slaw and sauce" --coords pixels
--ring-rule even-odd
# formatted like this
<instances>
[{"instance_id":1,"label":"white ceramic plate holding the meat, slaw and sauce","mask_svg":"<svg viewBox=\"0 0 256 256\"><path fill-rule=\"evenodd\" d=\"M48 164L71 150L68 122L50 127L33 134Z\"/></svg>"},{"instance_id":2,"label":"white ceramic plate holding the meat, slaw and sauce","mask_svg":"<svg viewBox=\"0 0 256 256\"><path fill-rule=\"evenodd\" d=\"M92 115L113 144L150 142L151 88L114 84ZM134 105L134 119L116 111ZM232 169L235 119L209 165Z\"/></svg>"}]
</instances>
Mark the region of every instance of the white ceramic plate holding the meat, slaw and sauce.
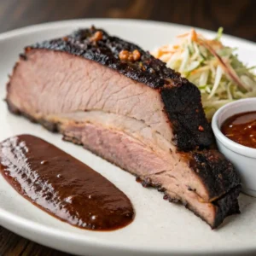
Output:
<instances>
[{"instance_id":1,"label":"white ceramic plate holding the meat, slaw and sauce","mask_svg":"<svg viewBox=\"0 0 256 256\"><path fill-rule=\"evenodd\" d=\"M189 27L140 20L71 20L30 26L0 35L0 140L30 133L42 137L102 173L128 195L136 210L134 221L121 230L96 232L65 224L34 207L18 195L0 176L0 224L32 241L80 255L181 255L256 252L256 199L239 198L241 214L227 218L218 230L182 206L162 199L154 189L144 189L135 177L96 157L82 147L61 141L61 136L44 130L7 111L5 84L18 54L27 44L56 38L73 29L94 24L113 35L153 49L173 41ZM213 37L212 32L201 31ZM239 48L242 61L255 65L253 43L224 36L224 44ZM253 57L254 56L254 57ZM254 61L254 63L253 63Z\"/></svg>"}]
</instances>

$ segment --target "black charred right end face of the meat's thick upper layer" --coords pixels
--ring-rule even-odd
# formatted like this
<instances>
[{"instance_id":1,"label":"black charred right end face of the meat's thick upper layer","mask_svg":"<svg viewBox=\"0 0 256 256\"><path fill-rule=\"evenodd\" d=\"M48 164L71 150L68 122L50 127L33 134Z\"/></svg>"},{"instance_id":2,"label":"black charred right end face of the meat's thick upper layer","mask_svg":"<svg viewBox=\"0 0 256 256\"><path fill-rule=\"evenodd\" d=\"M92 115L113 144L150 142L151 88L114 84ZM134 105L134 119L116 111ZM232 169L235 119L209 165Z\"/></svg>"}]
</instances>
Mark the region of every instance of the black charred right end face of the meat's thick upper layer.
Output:
<instances>
[{"instance_id":1,"label":"black charred right end face of the meat's thick upper layer","mask_svg":"<svg viewBox=\"0 0 256 256\"><path fill-rule=\"evenodd\" d=\"M200 91L186 79L175 79L173 83L178 86L166 85L160 89L167 116L172 121L173 143L181 151L209 148L214 139L201 106Z\"/></svg>"}]
</instances>

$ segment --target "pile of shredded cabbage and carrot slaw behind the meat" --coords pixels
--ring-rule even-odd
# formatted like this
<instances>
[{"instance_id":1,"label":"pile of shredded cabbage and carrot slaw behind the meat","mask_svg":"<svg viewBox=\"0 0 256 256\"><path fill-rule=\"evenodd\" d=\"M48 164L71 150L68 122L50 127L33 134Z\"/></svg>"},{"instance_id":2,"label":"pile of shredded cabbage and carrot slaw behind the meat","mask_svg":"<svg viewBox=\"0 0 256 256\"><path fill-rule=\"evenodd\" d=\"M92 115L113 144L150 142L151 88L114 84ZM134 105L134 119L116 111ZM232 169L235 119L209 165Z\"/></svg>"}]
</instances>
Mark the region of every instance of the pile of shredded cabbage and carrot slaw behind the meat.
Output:
<instances>
[{"instance_id":1,"label":"pile of shredded cabbage and carrot slaw behind the meat","mask_svg":"<svg viewBox=\"0 0 256 256\"><path fill-rule=\"evenodd\" d=\"M152 52L201 90L209 120L224 104L256 96L256 66L247 67L239 61L236 49L221 43L222 33L220 27L216 38L208 40L192 29L177 36L179 44L164 45Z\"/></svg>"}]
</instances>

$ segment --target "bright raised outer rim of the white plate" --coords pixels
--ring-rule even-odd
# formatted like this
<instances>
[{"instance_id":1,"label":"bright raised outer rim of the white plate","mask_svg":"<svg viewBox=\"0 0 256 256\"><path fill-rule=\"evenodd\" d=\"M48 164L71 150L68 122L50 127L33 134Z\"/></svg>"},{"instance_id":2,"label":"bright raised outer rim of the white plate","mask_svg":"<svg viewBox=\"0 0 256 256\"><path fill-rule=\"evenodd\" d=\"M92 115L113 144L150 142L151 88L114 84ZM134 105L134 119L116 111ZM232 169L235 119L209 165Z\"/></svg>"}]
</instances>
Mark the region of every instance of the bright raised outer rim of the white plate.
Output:
<instances>
[{"instance_id":1,"label":"bright raised outer rim of the white plate","mask_svg":"<svg viewBox=\"0 0 256 256\"><path fill-rule=\"evenodd\" d=\"M40 32L40 31L50 31L50 30L55 30L55 29L63 29L66 27L70 27L70 26L80 26L79 24L82 24L84 22L106 22L106 24L110 25L110 24L114 24L114 25L118 25L118 26L122 26L124 24L127 23L133 23L133 24L138 24L140 23L142 26L175 26L175 27L180 27L183 29L190 29L192 26L186 26L186 25L180 25L180 24L176 24L176 23L171 23L171 22L163 22L163 21L155 21L155 20L135 20L135 19L77 19L77 20L59 20L59 21L53 21L53 22L45 22L45 23L41 23L41 24L36 24L36 25L32 25L32 26L24 26L24 27L20 27L14 30L11 30L9 32L2 32L0 33L0 41L3 40L8 40L9 38L15 38L15 37L19 37L21 35L26 35L26 34L30 34L33 32ZM211 30L206 30L206 29L201 29L199 27L195 27L196 30L200 31L200 32L207 32L207 33L216 33L214 31ZM244 46L246 47L252 47L253 49L256 48L256 44L252 41L243 39L243 38L237 38L228 34L224 33L224 38L230 39L230 40L236 40L239 41L241 44L244 44ZM127 246L124 243L114 243L113 241L108 240L108 245L106 245L105 241L107 241L106 239L102 239L102 238L94 238L94 237L90 237L90 236L81 236L79 234L74 234L71 231L67 231L67 230L59 230L57 228L52 228L49 226L45 226L44 224L39 224L37 222L34 222L32 220L26 219L26 218L22 218L14 213L8 212L6 210L4 210L3 208L1 208L0 206L0 222L1 225L3 227L5 227L8 230L12 230L13 232L15 232L13 229L9 229L6 227L5 224L15 224L16 227L21 228L23 230L31 230L36 231L38 233L43 233L44 236L51 236L51 237L61 237L63 239L63 241L79 241L79 242L83 242L84 246L93 246L93 247L97 247L98 249L111 249L113 251L115 251L116 253L118 252L125 252L125 253L147 253L150 255L154 255L155 253L161 253L161 255L164 254L169 254L170 253L174 253L174 254L187 254L187 253L207 253L207 250L201 250L199 247L198 248L194 248L193 251L191 252L191 249L189 248L181 248L180 250L176 250L176 251L167 251L166 247L150 247L150 245L148 245L148 247L144 247L144 246ZM16 234L19 234L18 232L15 232ZM24 236L23 234L20 236ZM27 237L27 236L24 236ZM27 237L28 239L32 240L31 237ZM33 241L33 240L32 240ZM38 242L38 241L36 241ZM44 243L42 243L44 244ZM45 244L44 244L45 245ZM49 245L46 245L47 247L49 247ZM61 250L60 248L58 248L59 250ZM228 249L228 248L222 248L222 249L214 249L214 253L247 253L247 252L251 252L254 251L256 249L255 247L247 247L247 248L241 248L241 249ZM210 253L210 252L209 252ZM212 253L212 252L211 252Z\"/></svg>"}]
</instances>

